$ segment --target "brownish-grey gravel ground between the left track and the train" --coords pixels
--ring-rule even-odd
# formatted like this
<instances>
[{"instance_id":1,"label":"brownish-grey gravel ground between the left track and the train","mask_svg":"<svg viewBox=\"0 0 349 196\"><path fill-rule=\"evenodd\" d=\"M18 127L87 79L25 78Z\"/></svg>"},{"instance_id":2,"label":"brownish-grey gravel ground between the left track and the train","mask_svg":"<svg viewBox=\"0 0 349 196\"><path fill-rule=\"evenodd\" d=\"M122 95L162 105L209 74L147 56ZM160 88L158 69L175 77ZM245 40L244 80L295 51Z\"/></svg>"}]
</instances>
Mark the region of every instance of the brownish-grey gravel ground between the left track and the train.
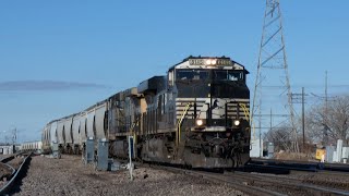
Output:
<instances>
[{"instance_id":1,"label":"brownish-grey gravel ground between the left track and the train","mask_svg":"<svg viewBox=\"0 0 349 196\"><path fill-rule=\"evenodd\" d=\"M33 157L14 195L243 195L224 184L152 168L95 171L76 156L62 159Z\"/></svg>"}]
</instances>

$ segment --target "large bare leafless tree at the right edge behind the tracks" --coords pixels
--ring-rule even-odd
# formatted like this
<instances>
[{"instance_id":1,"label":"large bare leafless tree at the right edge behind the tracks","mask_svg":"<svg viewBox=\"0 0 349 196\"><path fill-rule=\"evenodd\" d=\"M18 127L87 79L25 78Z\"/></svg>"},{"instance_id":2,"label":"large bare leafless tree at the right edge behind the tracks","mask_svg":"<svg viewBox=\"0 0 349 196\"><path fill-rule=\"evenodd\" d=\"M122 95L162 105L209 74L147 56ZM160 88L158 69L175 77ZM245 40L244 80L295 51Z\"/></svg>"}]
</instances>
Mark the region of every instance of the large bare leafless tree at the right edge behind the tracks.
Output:
<instances>
[{"instance_id":1,"label":"large bare leafless tree at the right edge behind the tracks","mask_svg":"<svg viewBox=\"0 0 349 196\"><path fill-rule=\"evenodd\" d=\"M348 145L349 137L349 96L336 97L332 101L313 106L306 112L306 135L325 145L342 139Z\"/></svg>"}]
</instances>

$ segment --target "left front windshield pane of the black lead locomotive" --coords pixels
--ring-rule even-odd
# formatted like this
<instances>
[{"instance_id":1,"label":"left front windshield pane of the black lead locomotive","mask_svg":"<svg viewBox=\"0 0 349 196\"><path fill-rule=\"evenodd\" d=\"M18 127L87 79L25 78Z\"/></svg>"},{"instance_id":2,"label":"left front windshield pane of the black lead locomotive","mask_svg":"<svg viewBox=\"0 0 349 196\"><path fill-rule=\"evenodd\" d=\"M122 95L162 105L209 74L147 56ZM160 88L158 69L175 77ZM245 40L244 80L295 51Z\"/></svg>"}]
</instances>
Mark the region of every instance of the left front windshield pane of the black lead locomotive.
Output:
<instances>
[{"instance_id":1,"label":"left front windshield pane of the black lead locomotive","mask_svg":"<svg viewBox=\"0 0 349 196\"><path fill-rule=\"evenodd\" d=\"M209 78L209 73L207 70L177 70L176 78L177 81L203 81Z\"/></svg>"}]
</instances>

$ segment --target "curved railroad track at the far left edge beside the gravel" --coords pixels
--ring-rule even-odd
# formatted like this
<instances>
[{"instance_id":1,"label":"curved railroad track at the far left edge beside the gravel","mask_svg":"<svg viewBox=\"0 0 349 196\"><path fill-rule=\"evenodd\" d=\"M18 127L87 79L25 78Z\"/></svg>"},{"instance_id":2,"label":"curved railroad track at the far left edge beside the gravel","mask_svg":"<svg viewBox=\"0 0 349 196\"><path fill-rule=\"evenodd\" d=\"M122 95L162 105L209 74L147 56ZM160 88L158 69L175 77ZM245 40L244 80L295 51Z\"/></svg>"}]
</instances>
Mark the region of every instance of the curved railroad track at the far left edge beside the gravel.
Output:
<instances>
[{"instance_id":1,"label":"curved railroad track at the far left edge beside the gravel","mask_svg":"<svg viewBox=\"0 0 349 196\"><path fill-rule=\"evenodd\" d=\"M0 195L7 195L11 191L23 174L25 166L31 161L31 156L32 154L21 154L0 160L0 169L3 169L0 179Z\"/></svg>"}]
</instances>

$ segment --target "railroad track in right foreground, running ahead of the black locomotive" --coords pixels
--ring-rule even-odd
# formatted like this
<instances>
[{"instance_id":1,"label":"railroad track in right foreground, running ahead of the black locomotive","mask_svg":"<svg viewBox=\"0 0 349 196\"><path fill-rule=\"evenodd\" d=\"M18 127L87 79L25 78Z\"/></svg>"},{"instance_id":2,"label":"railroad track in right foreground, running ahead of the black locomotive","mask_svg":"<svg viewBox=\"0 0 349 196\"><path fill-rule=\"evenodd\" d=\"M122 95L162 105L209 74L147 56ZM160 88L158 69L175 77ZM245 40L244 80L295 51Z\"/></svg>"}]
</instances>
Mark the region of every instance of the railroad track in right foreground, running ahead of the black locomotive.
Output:
<instances>
[{"instance_id":1,"label":"railroad track in right foreground, running ahead of the black locomotive","mask_svg":"<svg viewBox=\"0 0 349 196\"><path fill-rule=\"evenodd\" d=\"M154 166L153 166L154 167ZM255 196L284 196L284 195L349 195L346 189L333 188L332 184L309 181L304 183L301 179L292 175L274 175L248 172L224 172L215 173L207 171L183 170L156 166L161 170L183 173L195 177L202 177L215 183L225 183L248 195Z\"/></svg>"}]
</instances>

